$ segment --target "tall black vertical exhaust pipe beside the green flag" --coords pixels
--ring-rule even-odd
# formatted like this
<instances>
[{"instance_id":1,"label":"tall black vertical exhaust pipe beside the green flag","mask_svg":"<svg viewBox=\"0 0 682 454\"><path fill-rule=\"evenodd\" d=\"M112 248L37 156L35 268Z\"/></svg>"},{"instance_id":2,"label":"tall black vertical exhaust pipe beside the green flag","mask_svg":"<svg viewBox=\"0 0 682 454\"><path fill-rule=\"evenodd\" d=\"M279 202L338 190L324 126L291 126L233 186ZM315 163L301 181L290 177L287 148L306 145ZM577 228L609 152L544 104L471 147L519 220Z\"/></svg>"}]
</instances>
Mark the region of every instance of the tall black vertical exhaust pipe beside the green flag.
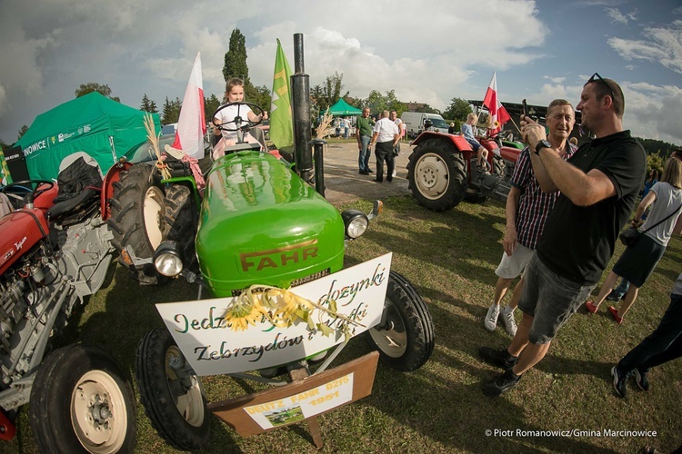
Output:
<instances>
[{"instance_id":1,"label":"tall black vertical exhaust pipe beside the green flag","mask_svg":"<svg viewBox=\"0 0 682 454\"><path fill-rule=\"evenodd\" d=\"M291 76L292 115L294 119L294 146L296 173L308 184L313 184L313 152L310 139L310 77L304 74L303 34L294 35L294 62L296 72Z\"/></svg>"}]
</instances>

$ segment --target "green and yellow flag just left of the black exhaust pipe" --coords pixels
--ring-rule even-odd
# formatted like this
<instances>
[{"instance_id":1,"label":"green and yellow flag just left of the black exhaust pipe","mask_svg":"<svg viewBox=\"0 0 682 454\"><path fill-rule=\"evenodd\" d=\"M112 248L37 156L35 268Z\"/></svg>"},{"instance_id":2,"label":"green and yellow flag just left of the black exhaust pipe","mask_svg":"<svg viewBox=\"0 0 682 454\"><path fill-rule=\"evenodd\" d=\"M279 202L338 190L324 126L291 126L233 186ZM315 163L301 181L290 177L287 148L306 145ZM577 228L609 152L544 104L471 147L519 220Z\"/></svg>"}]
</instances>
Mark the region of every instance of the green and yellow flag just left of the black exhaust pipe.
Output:
<instances>
[{"instance_id":1,"label":"green and yellow flag just left of the black exhaust pipe","mask_svg":"<svg viewBox=\"0 0 682 454\"><path fill-rule=\"evenodd\" d=\"M291 118L291 92L289 77L291 68L286 61L282 44L277 39L275 76L272 83L272 105L270 106L270 140L277 148L294 144L294 126Z\"/></svg>"}]
</instances>

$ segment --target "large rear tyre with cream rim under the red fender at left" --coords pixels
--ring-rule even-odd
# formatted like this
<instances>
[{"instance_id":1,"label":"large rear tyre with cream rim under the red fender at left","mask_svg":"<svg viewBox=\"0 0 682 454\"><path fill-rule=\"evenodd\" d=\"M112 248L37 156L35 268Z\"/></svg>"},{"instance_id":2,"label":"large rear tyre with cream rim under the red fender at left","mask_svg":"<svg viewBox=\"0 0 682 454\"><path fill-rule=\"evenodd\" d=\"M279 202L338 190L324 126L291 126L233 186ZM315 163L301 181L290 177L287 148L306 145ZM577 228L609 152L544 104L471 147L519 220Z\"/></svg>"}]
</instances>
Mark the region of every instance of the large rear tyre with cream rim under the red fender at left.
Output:
<instances>
[{"instance_id":1,"label":"large rear tyre with cream rim under the red fender at left","mask_svg":"<svg viewBox=\"0 0 682 454\"><path fill-rule=\"evenodd\" d=\"M135 164L121 173L121 180L114 183L114 196L109 200L111 217L106 221L114 232L112 244L116 251L121 252L129 244L141 259L152 257L167 231L165 193L155 185L153 172L153 165ZM141 270L132 265L129 268L143 284L154 285L161 278L152 264Z\"/></svg>"}]
</instances>

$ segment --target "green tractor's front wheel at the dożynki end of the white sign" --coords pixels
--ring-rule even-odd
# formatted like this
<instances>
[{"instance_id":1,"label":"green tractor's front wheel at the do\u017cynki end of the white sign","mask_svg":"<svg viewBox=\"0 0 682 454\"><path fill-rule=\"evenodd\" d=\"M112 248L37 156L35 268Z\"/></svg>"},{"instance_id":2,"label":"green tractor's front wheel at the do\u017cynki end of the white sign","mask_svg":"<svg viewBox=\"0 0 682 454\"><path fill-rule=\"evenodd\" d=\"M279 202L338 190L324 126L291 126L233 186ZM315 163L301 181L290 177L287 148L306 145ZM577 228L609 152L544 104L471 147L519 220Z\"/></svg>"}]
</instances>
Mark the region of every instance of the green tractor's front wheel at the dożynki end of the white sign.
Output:
<instances>
[{"instance_id":1,"label":"green tractor's front wheel at the do\u017cynki end of the white sign","mask_svg":"<svg viewBox=\"0 0 682 454\"><path fill-rule=\"evenodd\" d=\"M426 302L396 271L388 277L384 311L386 321L367 331L379 358L401 372L423 366L434 350L434 322Z\"/></svg>"}]
</instances>

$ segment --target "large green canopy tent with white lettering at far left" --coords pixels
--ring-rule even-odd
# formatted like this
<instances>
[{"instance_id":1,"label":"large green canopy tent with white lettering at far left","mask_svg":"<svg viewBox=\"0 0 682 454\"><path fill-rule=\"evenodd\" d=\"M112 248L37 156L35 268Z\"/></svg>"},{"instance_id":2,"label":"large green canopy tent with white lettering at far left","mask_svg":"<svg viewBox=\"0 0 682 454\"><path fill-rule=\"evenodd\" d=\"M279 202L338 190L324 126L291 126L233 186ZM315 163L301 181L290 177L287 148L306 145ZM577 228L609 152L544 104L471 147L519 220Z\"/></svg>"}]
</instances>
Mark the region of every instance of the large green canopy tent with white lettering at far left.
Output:
<instances>
[{"instance_id":1,"label":"large green canopy tent with white lettering at far left","mask_svg":"<svg viewBox=\"0 0 682 454\"><path fill-rule=\"evenodd\" d=\"M106 173L120 158L132 157L147 140L144 115L102 94L85 94L35 117L16 145L21 146L33 179L56 178L59 163L75 152L95 158L102 173ZM159 116L152 117L155 132L159 133Z\"/></svg>"}]
</instances>

